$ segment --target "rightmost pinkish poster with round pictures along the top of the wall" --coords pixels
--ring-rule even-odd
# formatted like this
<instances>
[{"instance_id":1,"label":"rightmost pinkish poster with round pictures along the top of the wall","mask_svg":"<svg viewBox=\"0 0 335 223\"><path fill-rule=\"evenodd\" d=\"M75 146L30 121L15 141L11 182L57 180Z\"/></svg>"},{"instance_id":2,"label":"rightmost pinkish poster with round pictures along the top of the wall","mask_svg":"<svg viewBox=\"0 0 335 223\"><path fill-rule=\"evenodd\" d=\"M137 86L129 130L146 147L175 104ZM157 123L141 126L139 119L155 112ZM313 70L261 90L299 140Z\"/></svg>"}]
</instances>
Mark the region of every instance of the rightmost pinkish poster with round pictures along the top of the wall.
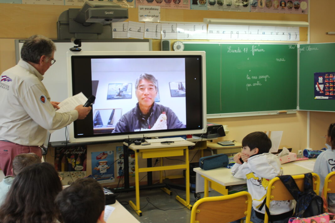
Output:
<instances>
[{"instance_id":1,"label":"rightmost pinkish poster with round pictures along the top of the wall","mask_svg":"<svg viewBox=\"0 0 335 223\"><path fill-rule=\"evenodd\" d=\"M308 14L308 0L250 0L251 12Z\"/></svg>"}]
</instances>

